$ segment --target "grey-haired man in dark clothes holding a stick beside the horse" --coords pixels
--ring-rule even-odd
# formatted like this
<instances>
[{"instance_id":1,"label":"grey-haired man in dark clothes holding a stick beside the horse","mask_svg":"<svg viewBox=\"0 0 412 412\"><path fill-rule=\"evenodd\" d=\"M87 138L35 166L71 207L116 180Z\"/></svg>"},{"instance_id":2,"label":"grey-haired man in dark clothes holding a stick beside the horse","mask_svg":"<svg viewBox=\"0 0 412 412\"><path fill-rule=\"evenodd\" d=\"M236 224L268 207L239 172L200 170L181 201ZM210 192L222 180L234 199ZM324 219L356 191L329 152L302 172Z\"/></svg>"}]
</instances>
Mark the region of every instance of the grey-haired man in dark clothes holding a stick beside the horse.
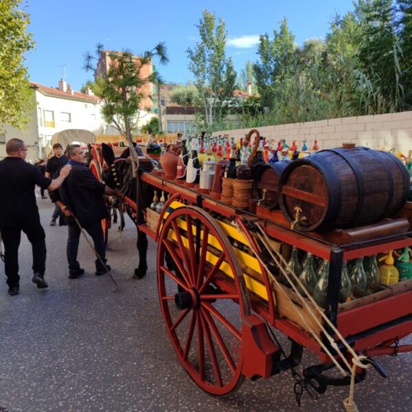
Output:
<instances>
[{"instance_id":1,"label":"grey-haired man in dark clothes holding a stick beside the horse","mask_svg":"<svg viewBox=\"0 0 412 412\"><path fill-rule=\"evenodd\" d=\"M104 194L117 196L117 192L111 187L100 183L85 163L85 155L79 145L67 146L68 164L71 165L70 179L60 187L58 193L50 194L52 201L62 209L68 216L69 237L67 238L67 261L69 263L69 278L76 279L84 273L77 260L80 228L73 215L78 219L80 225L93 238L95 250L106 263L106 246L104 244L102 219L108 217ZM100 260L95 261L96 275L106 273ZM106 265L110 270L110 266Z\"/></svg>"}]
</instances>

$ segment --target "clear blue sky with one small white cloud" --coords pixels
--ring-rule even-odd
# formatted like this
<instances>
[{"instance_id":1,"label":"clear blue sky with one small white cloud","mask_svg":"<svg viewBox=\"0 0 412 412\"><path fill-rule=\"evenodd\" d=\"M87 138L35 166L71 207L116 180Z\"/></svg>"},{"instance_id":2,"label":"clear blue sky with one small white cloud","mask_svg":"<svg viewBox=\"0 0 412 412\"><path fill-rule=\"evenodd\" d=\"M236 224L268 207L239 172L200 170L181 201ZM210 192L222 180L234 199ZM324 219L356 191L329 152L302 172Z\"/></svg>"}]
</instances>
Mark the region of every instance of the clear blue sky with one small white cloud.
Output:
<instances>
[{"instance_id":1,"label":"clear blue sky with one small white cloud","mask_svg":"<svg viewBox=\"0 0 412 412\"><path fill-rule=\"evenodd\" d=\"M82 62L96 43L139 54L164 41L170 62L157 68L166 82L185 83L192 79L185 51L196 44L195 25L203 9L225 21L226 53L240 71L244 62L258 59L259 34L273 36L283 16L301 45L308 38L324 38L336 12L345 14L353 5L352 0L27 0L29 31L36 41L36 48L27 54L30 80L57 87L66 65L67 82L78 90L92 77L82 69Z\"/></svg>"}]
</instances>

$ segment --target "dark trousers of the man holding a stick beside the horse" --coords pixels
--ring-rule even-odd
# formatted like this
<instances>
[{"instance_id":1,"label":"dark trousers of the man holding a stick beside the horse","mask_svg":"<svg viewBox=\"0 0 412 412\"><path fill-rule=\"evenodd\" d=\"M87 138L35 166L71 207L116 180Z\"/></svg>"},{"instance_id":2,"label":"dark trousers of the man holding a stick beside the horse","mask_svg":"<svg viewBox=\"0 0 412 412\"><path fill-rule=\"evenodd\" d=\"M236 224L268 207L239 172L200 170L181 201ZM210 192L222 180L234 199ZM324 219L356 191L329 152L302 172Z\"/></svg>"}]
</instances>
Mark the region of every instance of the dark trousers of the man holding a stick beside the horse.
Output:
<instances>
[{"instance_id":1,"label":"dark trousers of the man holding a stick beside the horse","mask_svg":"<svg viewBox=\"0 0 412 412\"><path fill-rule=\"evenodd\" d=\"M80 264L77 260L79 239L80 239L80 229L76 222L69 220L69 237L67 238L67 262L69 263L69 273L76 273L80 271ZM88 225L84 227L84 230L89 233L93 239L95 250L99 253L103 262L106 263L106 245L104 244L102 224L100 220L93 223L93 225ZM95 260L96 270L102 271L103 265L100 260Z\"/></svg>"}]
</instances>

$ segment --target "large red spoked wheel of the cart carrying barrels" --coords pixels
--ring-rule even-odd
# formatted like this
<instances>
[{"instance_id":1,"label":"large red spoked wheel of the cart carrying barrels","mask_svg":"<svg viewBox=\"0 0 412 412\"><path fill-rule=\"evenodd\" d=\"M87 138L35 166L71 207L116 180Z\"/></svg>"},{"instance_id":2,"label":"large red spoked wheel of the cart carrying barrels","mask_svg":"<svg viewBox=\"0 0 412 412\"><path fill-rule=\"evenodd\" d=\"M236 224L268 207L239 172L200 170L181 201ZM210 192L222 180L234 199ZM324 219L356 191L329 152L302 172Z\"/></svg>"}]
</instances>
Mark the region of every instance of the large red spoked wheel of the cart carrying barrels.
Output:
<instances>
[{"instance_id":1,"label":"large red spoked wheel of the cart carrying barrels","mask_svg":"<svg viewBox=\"0 0 412 412\"><path fill-rule=\"evenodd\" d=\"M167 253L174 269L165 266ZM159 235L157 279L165 326L187 374L213 395L236 389L244 379L247 288L227 235L203 209L179 207L166 218Z\"/></svg>"}]
</instances>

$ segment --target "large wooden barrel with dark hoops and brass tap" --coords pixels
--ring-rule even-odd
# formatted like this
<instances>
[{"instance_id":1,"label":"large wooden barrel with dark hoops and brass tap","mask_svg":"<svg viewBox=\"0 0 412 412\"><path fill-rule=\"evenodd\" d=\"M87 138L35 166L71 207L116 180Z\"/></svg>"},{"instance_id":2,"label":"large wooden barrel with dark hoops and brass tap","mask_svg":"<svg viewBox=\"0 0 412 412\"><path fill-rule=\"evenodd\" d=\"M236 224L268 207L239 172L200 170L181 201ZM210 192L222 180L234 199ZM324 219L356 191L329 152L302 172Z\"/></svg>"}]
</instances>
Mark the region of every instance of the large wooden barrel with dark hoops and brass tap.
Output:
<instances>
[{"instance_id":1,"label":"large wooden barrel with dark hoops and brass tap","mask_svg":"<svg viewBox=\"0 0 412 412\"><path fill-rule=\"evenodd\" d=\"M378 222L407 201L409 176L398 157L369 148L321 150L290 163L279 181L284 216L295 229L328 231Z\"/></svg>"}]
</instances>

